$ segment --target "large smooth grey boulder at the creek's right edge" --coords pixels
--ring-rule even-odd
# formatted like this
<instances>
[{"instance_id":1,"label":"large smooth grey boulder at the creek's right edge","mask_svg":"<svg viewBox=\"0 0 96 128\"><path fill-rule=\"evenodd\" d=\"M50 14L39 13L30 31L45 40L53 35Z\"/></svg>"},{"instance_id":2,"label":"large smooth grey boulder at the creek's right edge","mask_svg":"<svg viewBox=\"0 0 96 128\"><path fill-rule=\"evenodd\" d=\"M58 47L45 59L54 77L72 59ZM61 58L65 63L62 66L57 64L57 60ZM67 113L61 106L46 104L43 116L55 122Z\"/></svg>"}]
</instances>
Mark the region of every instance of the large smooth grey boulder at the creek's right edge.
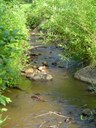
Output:
<instances>
[{"instance_id":1,"label":"large smooth grey boulder at the creek's right edge","mask_svg":"<svg viewBox=\"0 0 96 128\"><path fill-rule=\"evenodd\" d=\"M96 67L89 65L82 68L75 73L74 77L87 83L96 84Z\"/></svg>"}]
</instances>

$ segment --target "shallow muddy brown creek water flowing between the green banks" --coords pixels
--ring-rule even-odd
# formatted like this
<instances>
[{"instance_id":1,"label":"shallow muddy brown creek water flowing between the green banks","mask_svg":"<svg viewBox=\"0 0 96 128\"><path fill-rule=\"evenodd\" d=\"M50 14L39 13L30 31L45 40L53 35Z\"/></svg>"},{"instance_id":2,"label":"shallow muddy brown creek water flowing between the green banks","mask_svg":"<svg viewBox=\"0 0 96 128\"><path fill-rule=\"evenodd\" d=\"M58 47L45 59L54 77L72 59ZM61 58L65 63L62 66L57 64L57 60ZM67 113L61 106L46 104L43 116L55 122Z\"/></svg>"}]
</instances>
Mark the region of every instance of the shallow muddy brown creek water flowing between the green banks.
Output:
<instances>
[{"instance_id":1,"label":"shallow muddy brown creek water flowing between the green banks","mask_svg":"<svg viewBox=\"0 0 96 128\"><path fill-rule=\"evenodd\" d=\"M39 46L34 41L32 46ZM92 123L80 120L82 106L86 104L89 108L96 108L96 96L89 94L86 91L88 85L74 79L66 68L59 68L62 62L58 54L61 50L54 46L40 46L32 52L40 53L33 60L35 65L41 65L45 60L48 62L53 80L29 81L22 78L20 87L24 91L11 89L10 93L7 92L13 102L7 106L8 120L3 128L96 128ZM57 60L59 66L52 65ZM36 93L40 93L46 102L32 99L31 96ZM74 121L67 124L64 118L54 114L34 118L49 111L60 112L74 118Z\"/></svg>"}]
</instances>

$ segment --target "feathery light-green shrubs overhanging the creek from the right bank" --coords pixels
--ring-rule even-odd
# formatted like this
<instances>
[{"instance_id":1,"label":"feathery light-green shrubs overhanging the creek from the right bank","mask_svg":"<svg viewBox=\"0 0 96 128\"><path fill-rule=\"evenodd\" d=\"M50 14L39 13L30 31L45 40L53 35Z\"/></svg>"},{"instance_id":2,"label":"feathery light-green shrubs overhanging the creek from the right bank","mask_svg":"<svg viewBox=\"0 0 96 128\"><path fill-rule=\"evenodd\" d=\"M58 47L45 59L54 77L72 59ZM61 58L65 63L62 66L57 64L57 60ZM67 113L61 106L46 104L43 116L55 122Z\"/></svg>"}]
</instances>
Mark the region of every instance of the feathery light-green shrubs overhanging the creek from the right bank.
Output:
<instances>
[{"instance_id":1,"label":"feathery light-green shrubs overhanging the creek from the right bank","mask_svg":"<svg viewBox=\"0 0 96 128\"><path fill-rule=\"evenodd\" d=\"M27 17L46 42L64 48L64 56L96 63L95 0L35 0Z\"/></svg>"}]
</instances>

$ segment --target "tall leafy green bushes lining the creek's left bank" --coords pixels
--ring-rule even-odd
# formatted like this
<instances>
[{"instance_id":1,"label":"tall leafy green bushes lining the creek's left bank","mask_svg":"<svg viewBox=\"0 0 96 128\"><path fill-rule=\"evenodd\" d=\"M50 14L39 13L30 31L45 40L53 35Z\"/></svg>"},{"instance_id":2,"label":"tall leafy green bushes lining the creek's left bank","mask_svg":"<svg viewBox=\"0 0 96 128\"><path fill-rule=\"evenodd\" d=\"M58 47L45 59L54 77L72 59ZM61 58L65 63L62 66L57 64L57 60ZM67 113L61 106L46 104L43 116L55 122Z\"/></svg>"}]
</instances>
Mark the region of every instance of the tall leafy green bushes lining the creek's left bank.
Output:
<instances>
[{"instance_id":1,"label":"tall leafy green bushes lining the creek's left bank","mask_svg":"<svg viewBox=\"0 0 96 128\"><path fill-rule=\"evenodd\" d=\"M0 88L18 83L27 61L26 18L16 0L0 0Z\"/></svg>"}]
</instances>

